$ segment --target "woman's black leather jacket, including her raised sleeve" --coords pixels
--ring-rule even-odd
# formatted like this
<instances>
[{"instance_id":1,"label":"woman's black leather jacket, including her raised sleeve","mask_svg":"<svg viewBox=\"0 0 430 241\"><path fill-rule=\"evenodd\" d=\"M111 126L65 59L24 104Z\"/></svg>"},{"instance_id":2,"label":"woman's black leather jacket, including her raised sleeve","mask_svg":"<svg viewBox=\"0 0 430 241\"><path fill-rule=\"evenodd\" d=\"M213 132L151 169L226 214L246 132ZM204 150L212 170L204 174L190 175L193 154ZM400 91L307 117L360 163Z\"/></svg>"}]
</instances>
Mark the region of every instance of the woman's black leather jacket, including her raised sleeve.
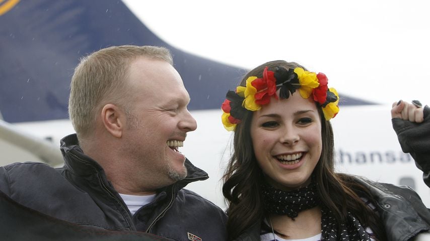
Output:
<instances>
[{"instance_id":1,"label":"woman's black leather jacket, including her raised sleeve","mask_svg":"<svg viewBox=\"0 0 430 241\"><path fill-rule=\"evenodd\" d=\"M410 153L423 179L430 187L430 108L424 107L424 122L420 124L392 119L403 152ZM384 223L389 241L412 240L416 234L430 230L430 210L409 187L377 183L357 178L377 201L376 207ZM259 241L261 221L250 226L235 240Z\"/></svg>"}]
</instances>

